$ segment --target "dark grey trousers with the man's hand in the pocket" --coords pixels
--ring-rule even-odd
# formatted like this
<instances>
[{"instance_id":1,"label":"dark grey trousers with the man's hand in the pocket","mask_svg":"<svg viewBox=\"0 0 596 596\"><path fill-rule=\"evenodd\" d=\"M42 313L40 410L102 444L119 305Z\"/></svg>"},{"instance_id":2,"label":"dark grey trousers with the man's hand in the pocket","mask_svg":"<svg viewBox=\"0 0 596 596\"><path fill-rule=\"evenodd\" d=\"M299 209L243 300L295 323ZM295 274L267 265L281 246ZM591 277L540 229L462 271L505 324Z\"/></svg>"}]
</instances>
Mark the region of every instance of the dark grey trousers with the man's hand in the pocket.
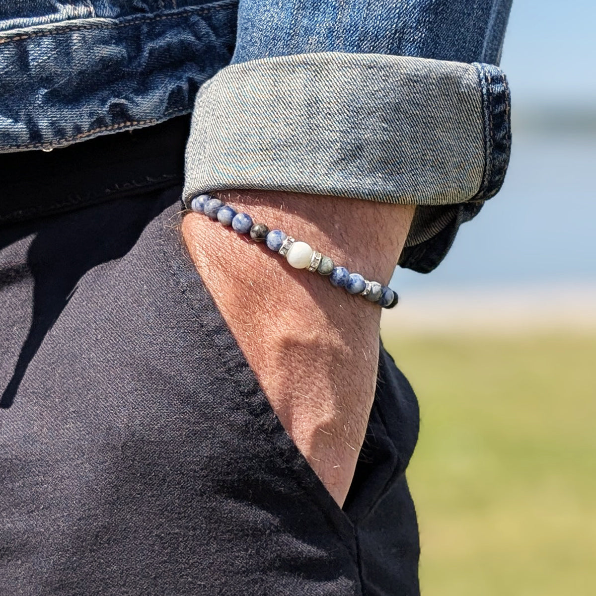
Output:
<instances>
[{"instance_id":1,"label":"dark grey trousers with the man's hand in the pocket","mask_svg":"<svg viewBox=\"0 0 596 596\"><path fill-rule=\"evenodd\" d=\"M182 247L187 120L0 156L0 594L418 594L381 350L337 507Z\"/></svg>"}]
</instances>

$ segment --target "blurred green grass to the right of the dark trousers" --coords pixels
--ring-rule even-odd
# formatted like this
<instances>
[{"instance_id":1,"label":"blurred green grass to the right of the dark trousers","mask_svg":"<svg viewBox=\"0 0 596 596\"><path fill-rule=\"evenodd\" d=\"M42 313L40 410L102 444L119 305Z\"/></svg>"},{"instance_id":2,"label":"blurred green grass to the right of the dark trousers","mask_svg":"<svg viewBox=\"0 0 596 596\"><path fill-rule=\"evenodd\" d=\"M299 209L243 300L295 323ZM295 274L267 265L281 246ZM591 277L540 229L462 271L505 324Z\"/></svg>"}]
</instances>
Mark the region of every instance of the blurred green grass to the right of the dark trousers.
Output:
<instances>
[{"instance_id":1,"label":"blurred green grass to the right of the dark trousers","mask_svg":"<svg viewBox=\"0 0 596 596\"><path fill-rule=\"evenodd\" d=\"M596 335L381 335L420 401L423 596L596 594Z\"/></svg>"}]
</instances>

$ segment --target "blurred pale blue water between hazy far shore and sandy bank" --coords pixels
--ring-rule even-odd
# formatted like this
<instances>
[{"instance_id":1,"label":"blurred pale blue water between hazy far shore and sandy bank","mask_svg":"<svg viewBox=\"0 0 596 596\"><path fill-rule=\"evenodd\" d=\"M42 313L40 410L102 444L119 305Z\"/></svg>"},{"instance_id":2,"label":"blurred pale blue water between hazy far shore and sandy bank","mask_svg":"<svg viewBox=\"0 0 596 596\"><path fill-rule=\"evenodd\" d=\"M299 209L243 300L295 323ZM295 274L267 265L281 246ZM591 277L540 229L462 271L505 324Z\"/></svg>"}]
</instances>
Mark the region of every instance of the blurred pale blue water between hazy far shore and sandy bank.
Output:
<instances>
[{"instance_id":1,"label":"blurred pale blue water between hazy far shore and sandy bank","mask_svg":"<svg viewBox=\"0 0 596 596\"><path fill-rule=\"evenodd\" d=\"M499 194L428 275L397 269L402 293L596 283L596 138L522 131Z\"/></svg>"}]
</instances>

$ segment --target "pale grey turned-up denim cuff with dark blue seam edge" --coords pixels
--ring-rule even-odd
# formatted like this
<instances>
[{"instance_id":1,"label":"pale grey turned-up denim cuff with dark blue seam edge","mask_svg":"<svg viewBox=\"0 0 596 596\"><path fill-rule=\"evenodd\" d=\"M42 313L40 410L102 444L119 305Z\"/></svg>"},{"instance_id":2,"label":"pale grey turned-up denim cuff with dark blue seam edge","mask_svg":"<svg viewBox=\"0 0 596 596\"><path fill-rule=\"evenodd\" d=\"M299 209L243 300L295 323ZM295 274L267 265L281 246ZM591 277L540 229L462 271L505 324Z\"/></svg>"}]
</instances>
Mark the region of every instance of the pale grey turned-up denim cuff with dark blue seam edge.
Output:
<instances>
[{"instance_id":1,"label":"pale grey turned-up denim cuff with dark blue seam edge","mask_svg":"<svg viewBox=\"0 0 596 596\"><path fill-rule=\"evenodd\" d=\"M198 93L184 197L235 188L415 204L400 264L430 271L502 184L508 106L504 75L486 64L336 52L232 64Z\"/></svg>"}]
</instances>

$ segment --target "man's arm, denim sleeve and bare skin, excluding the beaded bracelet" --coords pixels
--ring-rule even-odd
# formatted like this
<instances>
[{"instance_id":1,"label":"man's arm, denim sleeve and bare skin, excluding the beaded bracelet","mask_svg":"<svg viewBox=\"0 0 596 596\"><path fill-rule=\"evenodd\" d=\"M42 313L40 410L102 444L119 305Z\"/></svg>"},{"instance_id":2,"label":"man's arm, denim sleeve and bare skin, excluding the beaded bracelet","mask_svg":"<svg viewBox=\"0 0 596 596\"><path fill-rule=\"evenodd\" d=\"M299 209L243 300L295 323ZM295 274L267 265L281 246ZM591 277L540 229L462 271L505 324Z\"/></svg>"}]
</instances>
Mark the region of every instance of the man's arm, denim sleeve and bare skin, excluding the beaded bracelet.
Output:
<instances>
[{"instance_id":1,"label":"man's arm, denim sleeve and bare skin, excluding the beaded bracelet","mask_svg":"<svg viewBox=\"0 0 596 596\"><path fill-rule=\"evenodd\" d=\"M367 278L387 283L400 255L432 270L507 168L508 89L492 65L510 4L240 0L232 64L197 97L185 201L252 189L229 202ZM199 216L184 237L342 503L374 396L380 308Z\"/></svg>"}]
</instances>

